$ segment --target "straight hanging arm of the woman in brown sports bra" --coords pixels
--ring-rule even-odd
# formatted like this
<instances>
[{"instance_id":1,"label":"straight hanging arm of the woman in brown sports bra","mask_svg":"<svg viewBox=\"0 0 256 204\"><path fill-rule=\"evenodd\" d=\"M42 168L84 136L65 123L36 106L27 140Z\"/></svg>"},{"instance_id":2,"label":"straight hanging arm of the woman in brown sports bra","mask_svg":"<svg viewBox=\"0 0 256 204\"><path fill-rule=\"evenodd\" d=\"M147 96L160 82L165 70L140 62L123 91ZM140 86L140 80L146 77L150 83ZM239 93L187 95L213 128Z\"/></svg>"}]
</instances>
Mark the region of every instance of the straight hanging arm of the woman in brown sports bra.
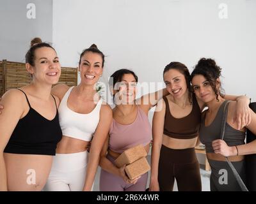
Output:
<instances>
[{"instance_id":1,"label":"straight hanging arm of the woman in brown sports bra","mask_svg":"<svg viewBox=\"0 0 256 204\"><path fill-rule=\"evenodd\" d=\"M151 154L151 175L150 175L150 191L159 191L158 183L158 165L160 150L163 143L163 129L164 129L164 115L165 115L165 103L161 99L156 106L156 110L153 117L152 134L153 145Z\"/></svg>"}]
</instances>

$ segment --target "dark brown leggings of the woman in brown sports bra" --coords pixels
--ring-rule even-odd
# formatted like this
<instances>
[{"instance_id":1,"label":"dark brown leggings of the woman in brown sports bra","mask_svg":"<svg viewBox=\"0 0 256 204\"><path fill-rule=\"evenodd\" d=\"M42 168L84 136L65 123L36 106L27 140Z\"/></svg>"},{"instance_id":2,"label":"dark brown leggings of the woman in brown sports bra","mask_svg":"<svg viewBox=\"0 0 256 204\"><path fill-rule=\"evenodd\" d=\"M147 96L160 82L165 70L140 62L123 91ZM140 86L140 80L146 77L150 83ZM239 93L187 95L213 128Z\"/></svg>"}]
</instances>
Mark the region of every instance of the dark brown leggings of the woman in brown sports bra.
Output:
<instances>
[{"instance_id":1,"label":"dark brown leggings of the woman in brown sports bra","mask_svg":"<svg viewBox=\"0 0 256 204\"><path fill-rule=\"evenodd\" d=\"M200 168L194 148L170 149L162 145L158 166L160 191L172 191L174 179L179 191L202 191Z\"/></svg>"}]
</instances>

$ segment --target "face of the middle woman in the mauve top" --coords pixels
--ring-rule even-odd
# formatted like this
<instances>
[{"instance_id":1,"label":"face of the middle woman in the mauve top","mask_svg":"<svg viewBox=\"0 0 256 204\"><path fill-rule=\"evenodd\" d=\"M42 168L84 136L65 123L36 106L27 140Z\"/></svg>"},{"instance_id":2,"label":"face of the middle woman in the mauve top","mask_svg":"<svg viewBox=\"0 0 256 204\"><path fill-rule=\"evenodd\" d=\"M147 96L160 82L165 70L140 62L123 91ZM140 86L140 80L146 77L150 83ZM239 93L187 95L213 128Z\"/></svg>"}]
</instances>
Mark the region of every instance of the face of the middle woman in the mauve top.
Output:
<instances>
[{"instance_id":1,"label":"face of the middle woman in the mauve top","mask_svg":"<svg viewBox=\"0 0 256 204\"><path fill-rule=\"evenodd\" d=\"M132 74L124 74L122 80L115 84L115 102L123 105L133 104L136 99L136 79Z\"/></svg>"}]
</instances>

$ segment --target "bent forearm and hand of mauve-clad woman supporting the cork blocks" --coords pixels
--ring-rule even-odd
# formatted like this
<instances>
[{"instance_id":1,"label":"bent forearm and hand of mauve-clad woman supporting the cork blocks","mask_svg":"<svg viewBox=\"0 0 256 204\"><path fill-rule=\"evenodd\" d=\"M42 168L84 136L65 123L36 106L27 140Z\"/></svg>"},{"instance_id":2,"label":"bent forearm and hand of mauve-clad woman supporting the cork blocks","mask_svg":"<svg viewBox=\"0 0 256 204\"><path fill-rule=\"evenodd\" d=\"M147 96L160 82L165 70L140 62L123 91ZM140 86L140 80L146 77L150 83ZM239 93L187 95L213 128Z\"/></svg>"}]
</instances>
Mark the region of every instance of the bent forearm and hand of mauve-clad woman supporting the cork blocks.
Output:
<instances>
[{"instance_id":1,"label":"bent forearm and hand of mauve-clad woman supporting the cork blocks","mask_svg":"<svg viewBox=\"0 0 256 204\"><path fill-rule=\"evenodd\" d=\"M126 175L125 175L125 166L122 166L121 168L117 168L113 163L111 163L111 161L109 161L109 159L106 157L107 156L107 152L108 152L108 141L109 141L109 136L106 139L106 142L104 143L104 146L100 152L100 162L99 162L99 166L105 170L108 171L108 173L112 173L118 177L121 177L122 179L124 179L125 182L127 182L128 184L135 184L137 182L138 179L140 179L140 177L136 178L136 179L129 179Z\"/></svg>"}]
</instances>

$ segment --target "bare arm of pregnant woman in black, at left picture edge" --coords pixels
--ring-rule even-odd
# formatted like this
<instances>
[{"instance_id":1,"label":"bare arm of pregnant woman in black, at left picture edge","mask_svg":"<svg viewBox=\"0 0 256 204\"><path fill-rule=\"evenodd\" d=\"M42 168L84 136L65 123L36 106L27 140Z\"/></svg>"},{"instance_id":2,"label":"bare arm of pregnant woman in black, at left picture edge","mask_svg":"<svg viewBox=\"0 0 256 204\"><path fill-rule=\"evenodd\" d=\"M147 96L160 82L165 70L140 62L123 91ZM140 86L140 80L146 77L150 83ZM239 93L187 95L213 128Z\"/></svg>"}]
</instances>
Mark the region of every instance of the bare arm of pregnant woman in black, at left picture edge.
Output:
<instances>
[{"instance_id":1,"label":"bare arm of pregnant woman in black, at left picture edge","mask_svg":"<svg viewBox=\"0 0 256 204\"><path fill-rule=\"evenodd\" d=\"M22 101L21 94L22 92L13 89L6 92L1 100L4 110L0 114L0 191L7 191L8 189L4 148L10 140L13 129L17 125L22 113L24 113L22 103L20 103Z\"/></svg>"}]
</instances>

